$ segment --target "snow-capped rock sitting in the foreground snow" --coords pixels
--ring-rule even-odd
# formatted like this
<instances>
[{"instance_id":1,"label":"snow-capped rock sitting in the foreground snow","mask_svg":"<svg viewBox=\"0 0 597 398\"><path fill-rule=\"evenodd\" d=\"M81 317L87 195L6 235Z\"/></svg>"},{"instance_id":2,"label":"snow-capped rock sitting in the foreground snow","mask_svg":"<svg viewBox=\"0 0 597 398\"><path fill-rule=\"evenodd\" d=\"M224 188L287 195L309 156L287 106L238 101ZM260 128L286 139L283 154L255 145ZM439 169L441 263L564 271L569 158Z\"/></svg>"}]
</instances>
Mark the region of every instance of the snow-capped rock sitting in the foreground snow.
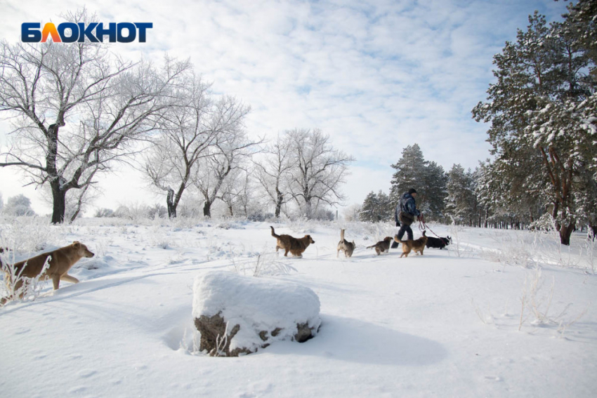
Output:
<instances>
[{"instance_id":1,"label":"snow-capped rock sitting in the foreground snow","mask_svg":"<svg viewBox=\"0 0 597 398\"><path fill-rule=\"evenodd\" d=\"M192 314L199 350L211 356L238 357L278 340L303 343L321 324L310 288L221 271L195 278Z\"/></svg>"}]
</instances>

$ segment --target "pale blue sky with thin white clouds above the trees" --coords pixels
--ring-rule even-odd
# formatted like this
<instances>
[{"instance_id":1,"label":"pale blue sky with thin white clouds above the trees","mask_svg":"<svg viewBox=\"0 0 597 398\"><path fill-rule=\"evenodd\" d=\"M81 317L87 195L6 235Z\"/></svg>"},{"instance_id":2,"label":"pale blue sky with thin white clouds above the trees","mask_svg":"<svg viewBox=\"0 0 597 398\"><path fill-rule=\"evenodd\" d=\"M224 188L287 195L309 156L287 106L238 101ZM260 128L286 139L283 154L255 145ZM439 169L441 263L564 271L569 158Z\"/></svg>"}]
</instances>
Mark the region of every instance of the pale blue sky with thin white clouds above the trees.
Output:
<instances>
[{"instance_id":1,"label":"pale blue sky with thin white clouds above the trees","mask_svg":"<svg viewBox=\"0 0 597 398\"><path fill-rule=\"evenodd\" d=\"M493 81L492 56L539 10L560 20L564 1L103 1L87 4L98 22L153 22L145 44L114 44L136 60L164 52L190 57L216 93L251 105L247 128L273 137L321 128L357 161L347 204L388 191L402 149L415 142L446 170L489 157L486 128L471 119ZM61 22L75 1L0 0L0 38L19 40L22 22ZM0 117L7 116L0 114ZM10 125L0 121L0 145ZM16 169L0 169L4 200L25 193L49 208ZM103 178L99 207L163 199L136 172ZM44 210L44 206L45 209Z\"/></svg>"}]
</instances>

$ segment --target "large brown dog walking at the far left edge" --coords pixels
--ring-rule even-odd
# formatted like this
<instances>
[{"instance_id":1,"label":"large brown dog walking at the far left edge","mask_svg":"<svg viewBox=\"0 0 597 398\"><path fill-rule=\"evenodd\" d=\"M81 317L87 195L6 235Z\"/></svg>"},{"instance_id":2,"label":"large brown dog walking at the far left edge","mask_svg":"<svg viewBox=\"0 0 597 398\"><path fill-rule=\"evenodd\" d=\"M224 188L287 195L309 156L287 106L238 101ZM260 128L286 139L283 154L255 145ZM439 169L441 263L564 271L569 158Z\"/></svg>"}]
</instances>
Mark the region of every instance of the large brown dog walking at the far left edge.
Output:
<instances>
[{"instance_id":1,"label":"large brown dog walking at the far left edge","mask_svg":"<svg viewBox=\"0 0 597 398\"><path fill-rule=\"evenodd\" d=\"M70 268L81 260L83 257L93 257L95 254L88 250L87 246L80 242L72 242L72 244L49 251L48 253L40 254L29 258L29 260L20 261L13 265L16 277L34 278L41 274L40 279L52 279L54 290L58 289L60 280L71 282L73 284L79 283L79 279L68 274ZM48 258L50 258L48 260ZM48 260L48 267L44 270L44 265ZM43 271L43 273L42 273ZM4 267L4 280L7 286L11 284L11 272ZM17 291L22 286L22 279L15 281L14 289ZM22 293L21 293L22 296Z\"/></svg>"}]
</instances>

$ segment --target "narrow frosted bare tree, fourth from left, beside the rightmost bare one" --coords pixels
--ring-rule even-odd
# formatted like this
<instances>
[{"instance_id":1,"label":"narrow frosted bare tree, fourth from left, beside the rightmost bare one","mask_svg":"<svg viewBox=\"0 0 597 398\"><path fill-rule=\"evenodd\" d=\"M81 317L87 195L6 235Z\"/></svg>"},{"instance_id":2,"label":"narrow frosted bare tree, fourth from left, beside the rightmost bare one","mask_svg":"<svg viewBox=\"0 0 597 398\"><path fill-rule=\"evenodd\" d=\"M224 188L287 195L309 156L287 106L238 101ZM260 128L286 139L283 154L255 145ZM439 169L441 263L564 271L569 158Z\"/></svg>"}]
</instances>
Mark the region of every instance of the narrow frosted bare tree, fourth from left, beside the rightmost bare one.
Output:
<instances>
[{"instance_id":1,"label":"narrow frosted bare tree, fourth from left, beside the rightmost bare one","mask_svg":"<svg viewBox=\"0 0 597 398\"><path fill-rule=\"evenodd\" d=\"M273 144L265 149L265 157L256 161L256 179L270 203L275 206L275 217L280 217L282 206L291 199L290 181L291 171L296 167L296 157L291 150L291 140L285 134L277 138Z\"/></svg>"}]
</instances>

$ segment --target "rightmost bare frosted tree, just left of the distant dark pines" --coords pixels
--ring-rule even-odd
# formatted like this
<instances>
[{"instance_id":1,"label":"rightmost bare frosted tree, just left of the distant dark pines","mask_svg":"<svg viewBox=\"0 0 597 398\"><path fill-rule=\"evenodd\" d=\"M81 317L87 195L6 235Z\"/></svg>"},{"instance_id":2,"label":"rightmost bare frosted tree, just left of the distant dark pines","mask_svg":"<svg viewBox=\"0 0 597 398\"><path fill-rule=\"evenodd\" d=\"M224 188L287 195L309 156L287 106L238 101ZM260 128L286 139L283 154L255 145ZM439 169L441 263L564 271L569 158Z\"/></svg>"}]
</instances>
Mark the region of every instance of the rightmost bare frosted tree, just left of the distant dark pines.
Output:
<instances>
[{"instance_id":1,"label":"rightmost bare frosted tree, just left of the distant dark pines","mask_svg":"<svg viewBox=\"0 0 597 398\"><path fill-rule=\"evenodd\" d=\"M295 128L286 134L296 159L291 173L292 196L303 213L312 218L321 203L330 206L341 203L344 197L339 188L346 183L348 163L355 159L335 150L329 135L318 128L313 131Z\"/></svg>"}]
</instances>

